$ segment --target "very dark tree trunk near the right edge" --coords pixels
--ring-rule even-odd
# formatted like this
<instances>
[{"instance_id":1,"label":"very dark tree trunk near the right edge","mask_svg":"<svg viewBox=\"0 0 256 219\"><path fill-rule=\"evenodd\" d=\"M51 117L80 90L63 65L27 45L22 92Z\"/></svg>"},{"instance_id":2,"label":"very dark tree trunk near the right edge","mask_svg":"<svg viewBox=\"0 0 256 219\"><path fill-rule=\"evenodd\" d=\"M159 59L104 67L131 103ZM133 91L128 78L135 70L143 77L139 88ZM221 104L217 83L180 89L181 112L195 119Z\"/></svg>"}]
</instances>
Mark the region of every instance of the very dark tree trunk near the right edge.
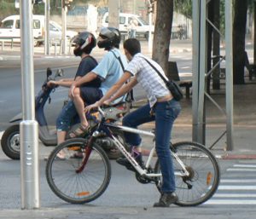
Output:
<instances>
[{"instance_id":1,"label":"very dark tree trunk near the right edge","mask_svg":"<svg viewBox=\"0 0 256 219\"><path fill-rule=\"evenodd\" d=\"M244 84L245 35L247 23L247 0L235 0L233 23L233 79L234 84Z\"/></svg>"}]
</instances>

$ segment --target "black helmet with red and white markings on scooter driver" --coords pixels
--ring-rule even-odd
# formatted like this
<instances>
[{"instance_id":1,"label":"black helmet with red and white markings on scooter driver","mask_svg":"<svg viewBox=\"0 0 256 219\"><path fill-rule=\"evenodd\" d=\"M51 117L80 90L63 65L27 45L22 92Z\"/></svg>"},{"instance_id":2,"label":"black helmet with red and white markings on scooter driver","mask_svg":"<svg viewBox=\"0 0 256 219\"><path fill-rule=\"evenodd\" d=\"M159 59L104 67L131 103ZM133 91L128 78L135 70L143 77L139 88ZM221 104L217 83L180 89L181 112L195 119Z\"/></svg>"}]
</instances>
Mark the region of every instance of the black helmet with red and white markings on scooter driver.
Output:
<instances>
[{"instance_id":1,"label":"black helmet with red and white markings on scooter driver","mask_svg":"<svg viewBox=\"0 0 256 219\"><path fill-rule=\"evenodd\" d=\"M74 55L81 56L83 52L90 54L91 50L96 47L96 38L90 32L80 32L73 38L72 44L75 46Z\"/></svg>"}]
</instances>

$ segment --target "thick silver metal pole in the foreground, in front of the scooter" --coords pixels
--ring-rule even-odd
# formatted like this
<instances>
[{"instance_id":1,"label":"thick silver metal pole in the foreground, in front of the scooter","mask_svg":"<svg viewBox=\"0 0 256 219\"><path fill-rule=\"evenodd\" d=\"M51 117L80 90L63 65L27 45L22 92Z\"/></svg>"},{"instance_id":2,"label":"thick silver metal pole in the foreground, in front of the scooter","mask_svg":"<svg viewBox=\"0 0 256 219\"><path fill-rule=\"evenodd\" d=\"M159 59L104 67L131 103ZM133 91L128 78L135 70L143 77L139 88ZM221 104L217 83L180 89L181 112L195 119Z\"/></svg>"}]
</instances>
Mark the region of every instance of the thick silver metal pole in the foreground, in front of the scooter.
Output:
<instances>
[{"instance_id":1,"label":"thick silver metal pole in the foreground, in front of the scooter","mask_svg":"<svg viewBox=\"0 0 256 219\"><path fill-rule=\"evenodd\" d=\"M20 50L22 121L20 123L21 209L39 204L38 123L35 120L32 1L21 1Z\"/></svg>"}]
</instances>

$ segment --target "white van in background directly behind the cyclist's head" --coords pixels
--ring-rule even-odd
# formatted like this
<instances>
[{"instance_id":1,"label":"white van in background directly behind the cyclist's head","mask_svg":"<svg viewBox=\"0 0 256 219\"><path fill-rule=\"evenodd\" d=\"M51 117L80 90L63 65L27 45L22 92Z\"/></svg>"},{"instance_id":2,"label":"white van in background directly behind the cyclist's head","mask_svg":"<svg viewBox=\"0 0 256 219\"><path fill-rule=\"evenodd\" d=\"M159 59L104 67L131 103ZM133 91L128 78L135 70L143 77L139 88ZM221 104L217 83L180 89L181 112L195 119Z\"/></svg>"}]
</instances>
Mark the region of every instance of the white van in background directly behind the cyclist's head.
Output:
<instances>
[{"instance_id":1,"label":"white van in background directly behind the cyclist's head","mask_svg":"<svg viewBox=\"0 0 256 219\"><path fill-rule=\"evenodd\" d=\"M124 35L127 34L130 21L132 19L137 20L137 37L143 36L148 39L149 25L146 20L137 14L119 13L119 31ZM103 15L102 26L108 26L108 12ZM152 26L152 32L154 32L154 26Z\"/></svg>"}]
</instances>

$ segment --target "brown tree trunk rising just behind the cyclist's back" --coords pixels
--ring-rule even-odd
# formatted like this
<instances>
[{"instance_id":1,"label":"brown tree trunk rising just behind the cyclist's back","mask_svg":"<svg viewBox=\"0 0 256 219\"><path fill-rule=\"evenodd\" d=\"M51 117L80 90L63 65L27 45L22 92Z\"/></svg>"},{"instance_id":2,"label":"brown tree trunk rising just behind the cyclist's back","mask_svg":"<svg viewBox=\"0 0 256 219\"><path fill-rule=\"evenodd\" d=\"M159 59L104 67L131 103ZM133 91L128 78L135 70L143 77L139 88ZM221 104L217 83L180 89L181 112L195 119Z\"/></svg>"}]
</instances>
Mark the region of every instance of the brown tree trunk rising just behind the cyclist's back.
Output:
<instances>
[{"instance_id":1,"label":"brown tree trunk rising just behind the cyclist's back","mask_svg":"<svg viewBox=\"0 0 256 219\"><path fill-rule=\"evenodd\" d=\"M167 73L172 33L173 0L158 0L155 3L157 3L157 9L152 58Z\"/></svg>"}]
</instances>

